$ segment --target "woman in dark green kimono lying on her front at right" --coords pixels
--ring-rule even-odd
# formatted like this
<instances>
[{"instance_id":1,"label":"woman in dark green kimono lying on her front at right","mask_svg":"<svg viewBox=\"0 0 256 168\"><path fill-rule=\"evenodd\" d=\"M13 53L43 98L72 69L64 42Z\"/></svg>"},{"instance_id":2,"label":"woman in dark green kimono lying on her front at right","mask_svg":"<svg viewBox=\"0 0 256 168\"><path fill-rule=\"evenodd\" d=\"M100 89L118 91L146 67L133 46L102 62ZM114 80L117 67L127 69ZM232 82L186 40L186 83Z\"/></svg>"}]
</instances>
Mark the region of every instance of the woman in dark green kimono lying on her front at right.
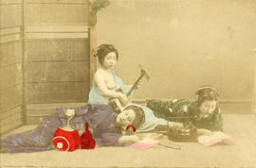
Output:
<instances>
[{"instance_id":1,"label":"woman in dark green kimono lying on her front at right","mask_svg":"<svg viewBox=\"0 0 256 168\"><path fill-rule=\"evenodd\" d=\"M199 134L223 130L222 115L218 106L219 93L211 86L203 86L196 94L196 101L151 99L146 101L146 106L154 111L156 117L181 122L188 129L195 127Z\"/></svg>"}]
</instances>

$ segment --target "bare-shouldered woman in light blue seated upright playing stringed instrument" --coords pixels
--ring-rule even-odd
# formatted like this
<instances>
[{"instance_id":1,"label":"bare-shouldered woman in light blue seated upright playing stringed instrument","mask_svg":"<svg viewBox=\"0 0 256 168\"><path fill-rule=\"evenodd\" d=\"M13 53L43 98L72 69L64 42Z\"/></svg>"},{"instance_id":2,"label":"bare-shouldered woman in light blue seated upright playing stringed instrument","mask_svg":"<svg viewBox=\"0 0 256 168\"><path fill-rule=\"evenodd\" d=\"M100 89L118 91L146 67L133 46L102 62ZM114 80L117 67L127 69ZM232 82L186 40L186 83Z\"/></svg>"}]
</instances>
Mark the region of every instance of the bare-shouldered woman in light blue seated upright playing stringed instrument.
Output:
<instances>
[{"instance_id":1,"label":"bare-shouldered woman in light blue seated upright playing stringed instrument","mask_svg":"<svg viewBox=\"0 0 256 168\"><path fill-rule=\"evenodd\" d=\"M124 85L121 78L112 70L119 59L118 50L114 45L104 43L98 47L97 56L100 68L94 75L88 103L108 104L110 98L120 98L128 101L125 93L129 92L132 86ZM118 89L121 89L122 92L118 92Z\"/></svg>"}]
</instances>

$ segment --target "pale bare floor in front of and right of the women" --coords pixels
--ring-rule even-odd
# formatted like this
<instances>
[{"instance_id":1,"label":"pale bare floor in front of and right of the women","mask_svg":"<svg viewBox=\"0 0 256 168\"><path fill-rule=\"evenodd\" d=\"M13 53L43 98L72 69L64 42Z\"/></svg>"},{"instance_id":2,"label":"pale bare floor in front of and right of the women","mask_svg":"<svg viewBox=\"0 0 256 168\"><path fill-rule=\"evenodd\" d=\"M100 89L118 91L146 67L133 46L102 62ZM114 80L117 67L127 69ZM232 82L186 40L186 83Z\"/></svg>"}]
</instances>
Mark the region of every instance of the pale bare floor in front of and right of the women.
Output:
<instances>
[{"instance_id":1,"label":"pale bare floor in front of and right of the women","mask_svg":"<svg viewBox=\"0 0 256 168\"><path fill-rule=\"evenodd\" d=\"M209 148L199 143L180 143L181 150L157 145L148 150L127 147L97 147L74 152L47 151L30 154L0 154L2 167L256 167L256 116L224 115L225 130L234 145ZM31 129L22 126L12 133Z\"/></svg>"}]
</instances>

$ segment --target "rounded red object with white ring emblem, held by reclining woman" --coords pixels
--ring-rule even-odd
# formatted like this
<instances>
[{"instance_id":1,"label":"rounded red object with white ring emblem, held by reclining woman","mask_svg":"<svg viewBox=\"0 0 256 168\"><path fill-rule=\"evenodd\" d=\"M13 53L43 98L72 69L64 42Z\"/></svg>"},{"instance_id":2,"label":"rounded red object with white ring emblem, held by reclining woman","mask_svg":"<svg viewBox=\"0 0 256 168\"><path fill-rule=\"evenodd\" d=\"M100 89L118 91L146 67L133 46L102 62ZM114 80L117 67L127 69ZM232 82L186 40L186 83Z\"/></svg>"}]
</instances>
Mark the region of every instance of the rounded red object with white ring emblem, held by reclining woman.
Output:
<instances>
[{"instance_id":1,"label":"rounded red object with white ring emblem, held by reclining woman","mask_svg":"<svg viewBox=\"0 0 256 168\"><path fill-rule=\"evenodd\" d=\"M53 137L53 144L56 148L63 151L74 151L80 146L80 135L77 130L67 131L58 128Z\"/></svg>"}]
</instances>

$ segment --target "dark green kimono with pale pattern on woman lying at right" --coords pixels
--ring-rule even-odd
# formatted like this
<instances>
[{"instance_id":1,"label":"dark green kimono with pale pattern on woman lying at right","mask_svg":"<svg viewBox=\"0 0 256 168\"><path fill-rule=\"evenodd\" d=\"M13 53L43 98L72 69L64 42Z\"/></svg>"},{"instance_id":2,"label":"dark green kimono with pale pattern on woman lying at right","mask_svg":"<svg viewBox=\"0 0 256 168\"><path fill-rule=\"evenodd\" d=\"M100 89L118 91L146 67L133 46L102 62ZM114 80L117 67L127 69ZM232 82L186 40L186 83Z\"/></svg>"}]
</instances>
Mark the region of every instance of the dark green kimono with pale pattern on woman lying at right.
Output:
<instances>
[{"instance_id":1,"label":"dark green kimono with pale pattern on woman lying at right","mask_svg":"<svg viewBox=\"0 0 256 168\"><path fill-rule=\"evenodd\" d=\"M158 99L146 100L146 106L153 110L156 117L173 122L181 122L185 128L207 128L222 130L223 119L219 107L208 115L200 117L197 101L175 99L162 101Z\"/></svg>"}]
</instances>

